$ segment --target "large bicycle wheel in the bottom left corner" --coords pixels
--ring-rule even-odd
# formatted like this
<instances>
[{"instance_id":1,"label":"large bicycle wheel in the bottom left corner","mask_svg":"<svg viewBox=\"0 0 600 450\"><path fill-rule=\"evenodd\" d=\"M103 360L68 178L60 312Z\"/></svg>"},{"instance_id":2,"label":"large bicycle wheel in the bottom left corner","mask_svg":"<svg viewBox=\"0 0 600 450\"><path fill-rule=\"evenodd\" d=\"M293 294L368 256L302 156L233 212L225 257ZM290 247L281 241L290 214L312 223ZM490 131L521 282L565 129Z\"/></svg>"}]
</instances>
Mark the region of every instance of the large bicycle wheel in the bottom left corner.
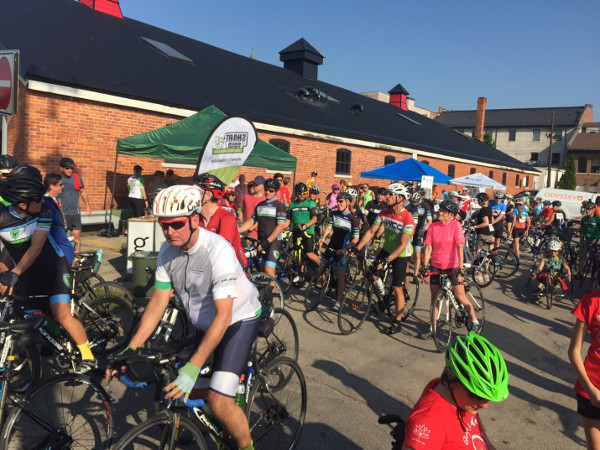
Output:
<instances>
[{"instance_id":1,"label":"large bicycle wheel in the bottom left corner","mask_svg":"<svg viewBox=\"0 0 600 450\"><path fill-rule=\"evenodd\" d=\"M107 449L110 399L85 375L50 378L16 402L2 430L3 449Z\"/></svg>"}]
</instances>

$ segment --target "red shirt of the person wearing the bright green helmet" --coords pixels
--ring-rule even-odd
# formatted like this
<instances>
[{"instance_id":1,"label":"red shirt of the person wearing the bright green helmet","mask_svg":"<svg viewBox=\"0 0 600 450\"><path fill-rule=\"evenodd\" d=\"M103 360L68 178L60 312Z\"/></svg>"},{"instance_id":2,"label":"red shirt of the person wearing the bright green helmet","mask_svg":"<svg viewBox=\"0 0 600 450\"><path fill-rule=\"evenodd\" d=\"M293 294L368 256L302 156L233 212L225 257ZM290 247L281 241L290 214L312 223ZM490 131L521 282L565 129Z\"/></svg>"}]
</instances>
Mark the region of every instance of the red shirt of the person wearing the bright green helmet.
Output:
<instances>
[{"instance_id":1,"label":"red shirt of the person wearing the bright green helmet","mask_svg":"<svg viewBox=\"0 0 600 450\"><path fill-rule=\"evenodd\" d=\"M488 438L478 415L461 413L434 389L440 379L431 380L406 422L404 443L414 449L487 449ZM463 430L464 427L464 430Z\"/></svg>"}]
</instances>

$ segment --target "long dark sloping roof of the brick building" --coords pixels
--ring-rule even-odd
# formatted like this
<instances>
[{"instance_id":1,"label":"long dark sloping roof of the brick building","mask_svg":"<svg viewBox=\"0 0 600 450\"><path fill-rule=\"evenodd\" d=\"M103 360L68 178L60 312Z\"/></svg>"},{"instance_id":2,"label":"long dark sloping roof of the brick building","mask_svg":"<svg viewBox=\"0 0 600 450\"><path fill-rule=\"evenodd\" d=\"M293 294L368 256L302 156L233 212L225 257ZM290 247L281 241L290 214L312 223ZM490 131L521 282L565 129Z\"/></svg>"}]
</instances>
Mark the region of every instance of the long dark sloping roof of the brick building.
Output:
<instances>
[{"instance_id":1,"label":"long dark sloping roof of the brick building","mask_svg":"<svg viewBox=\"0 0 600 450\"><path fill-rule=\"evenodd\" d=\"M73 0L0 0L0 11L0 48L20 50L26 80L191 110L215 105L255 122L530 170L417 113ZM142 37L193 63L159 53Z\"/></svg>"}]
</instances>

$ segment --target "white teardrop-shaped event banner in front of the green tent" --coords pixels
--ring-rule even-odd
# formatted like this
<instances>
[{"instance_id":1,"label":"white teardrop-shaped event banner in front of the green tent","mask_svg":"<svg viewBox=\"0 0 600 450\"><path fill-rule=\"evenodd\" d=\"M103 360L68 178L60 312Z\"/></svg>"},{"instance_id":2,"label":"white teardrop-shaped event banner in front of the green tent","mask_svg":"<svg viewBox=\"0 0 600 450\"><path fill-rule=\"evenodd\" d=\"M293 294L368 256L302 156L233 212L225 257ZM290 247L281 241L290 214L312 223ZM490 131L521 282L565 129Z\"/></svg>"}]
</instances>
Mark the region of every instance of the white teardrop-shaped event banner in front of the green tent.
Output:
<instances>
[{"instance_id":1,"label":"white teardrop-shaped event banner in front of the green tent","mask_svg":"<svg viewBox=\"0 0 600 450\"><path fill-rule=\"evenodd\" d=\"M254 149L256 140L256 130L248 120L241 117L223 120L206 140L196 173L209 172L228 185Z\"/></svg>"}]
</instances>

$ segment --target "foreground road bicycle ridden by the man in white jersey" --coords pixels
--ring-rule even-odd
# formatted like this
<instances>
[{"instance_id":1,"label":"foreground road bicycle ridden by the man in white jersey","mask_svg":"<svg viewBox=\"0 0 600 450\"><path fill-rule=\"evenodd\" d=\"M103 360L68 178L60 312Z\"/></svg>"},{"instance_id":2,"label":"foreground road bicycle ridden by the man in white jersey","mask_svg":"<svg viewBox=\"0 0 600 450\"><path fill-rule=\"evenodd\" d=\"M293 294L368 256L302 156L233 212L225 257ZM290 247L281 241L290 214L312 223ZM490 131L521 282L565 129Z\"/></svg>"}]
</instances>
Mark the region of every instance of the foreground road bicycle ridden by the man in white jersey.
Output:
<instances>
[{"instance_id":1,"label":"foreground road bicycle ridden by the man in white jersey","mask_svg":"<svg viewBox=\"0 0 600 450\"><path fill-rule=\"evenodd\" d=\"M132 371L132 363L138 362L152 364L155 381L161 381L155 390L160 412L129 430L115 444L115 450L179 448L176 445L207 449L205 434L220 446L238 448L224 427L212 416L204 400L189 400L183 404L162 398L162 388L175 379L176 358L149 355L129 359L125 382L130 387L145 387L137 381ZM210 375L210 367L203 368L201 373L206 378ZM208 379L203 381L208 383ZM250 358L240 377L236 402L246 414L255 447L293 449L304 425L306 398L304 375L294 360L278 356L265 361L264 365L257 365Z\"/></svg>"}]
</instances>

